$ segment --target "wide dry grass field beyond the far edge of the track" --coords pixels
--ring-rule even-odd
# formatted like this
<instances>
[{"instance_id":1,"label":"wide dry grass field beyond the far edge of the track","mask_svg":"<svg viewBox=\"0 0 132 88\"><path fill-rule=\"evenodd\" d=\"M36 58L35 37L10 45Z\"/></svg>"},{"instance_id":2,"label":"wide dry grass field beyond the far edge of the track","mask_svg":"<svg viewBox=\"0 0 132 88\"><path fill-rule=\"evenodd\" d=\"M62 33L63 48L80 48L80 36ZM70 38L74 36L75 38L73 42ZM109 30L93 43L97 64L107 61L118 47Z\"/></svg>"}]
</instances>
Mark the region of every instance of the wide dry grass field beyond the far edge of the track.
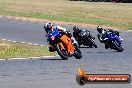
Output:
<instances>
[{"instance_id":1,"label":"wide dry grass field beyond the far edge of the track","mask_svg":"<svg viewBox=\"0 0 132 88\"><path fill-rule=\"evenodd\" d=\"M131 3L0 0L0 14L132 29Z\"/></svg>"}]
</instances>

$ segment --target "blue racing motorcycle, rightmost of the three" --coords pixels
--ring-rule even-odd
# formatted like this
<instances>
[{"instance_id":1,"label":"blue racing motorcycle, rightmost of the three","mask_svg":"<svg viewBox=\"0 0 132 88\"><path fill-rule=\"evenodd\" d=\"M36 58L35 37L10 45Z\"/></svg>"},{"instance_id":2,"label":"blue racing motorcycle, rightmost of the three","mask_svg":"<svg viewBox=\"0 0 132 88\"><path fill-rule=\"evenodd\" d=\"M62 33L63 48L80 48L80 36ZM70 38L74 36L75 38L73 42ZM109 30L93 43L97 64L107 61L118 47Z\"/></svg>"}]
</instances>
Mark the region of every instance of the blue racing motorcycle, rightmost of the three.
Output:
<instances>
[{"instance_id":1,"label":"blue racing motorcycle, rightmost of the three","mask_svg":"<svg viewBox=\"0 0 132 88\"><path fill-rule=\"evenodd\" d=\"M106 32L104 38L105 48L114 49L118 52L122 52L124 49L122 47L122 40L113 32Z\"/></svg>"}]
</instances>

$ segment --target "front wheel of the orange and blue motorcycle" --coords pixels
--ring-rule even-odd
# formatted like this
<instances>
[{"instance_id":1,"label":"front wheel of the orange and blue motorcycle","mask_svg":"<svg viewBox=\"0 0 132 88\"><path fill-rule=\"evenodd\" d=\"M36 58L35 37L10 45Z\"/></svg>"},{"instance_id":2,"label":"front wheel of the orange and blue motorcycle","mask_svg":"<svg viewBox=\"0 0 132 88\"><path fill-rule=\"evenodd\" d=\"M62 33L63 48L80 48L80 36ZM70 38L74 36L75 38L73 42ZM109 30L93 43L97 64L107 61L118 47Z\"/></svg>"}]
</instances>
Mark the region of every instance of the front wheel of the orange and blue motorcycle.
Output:
<instances>
[{"instance_id":1,"label":"front wheel of the orange and blue motorcycle","mask_svg":"<svg viewBox=\"0 0 132 88\"><path fill-rule=\"evenodd\" d=\"M68 53L66 50L62 49L61 46L57 43L55 45L56 51L59 54L59 56L63 59L63 60L67 60L68 59ZM65 47L66 49L66 47Z\"/></svg>"}]
</instances>

